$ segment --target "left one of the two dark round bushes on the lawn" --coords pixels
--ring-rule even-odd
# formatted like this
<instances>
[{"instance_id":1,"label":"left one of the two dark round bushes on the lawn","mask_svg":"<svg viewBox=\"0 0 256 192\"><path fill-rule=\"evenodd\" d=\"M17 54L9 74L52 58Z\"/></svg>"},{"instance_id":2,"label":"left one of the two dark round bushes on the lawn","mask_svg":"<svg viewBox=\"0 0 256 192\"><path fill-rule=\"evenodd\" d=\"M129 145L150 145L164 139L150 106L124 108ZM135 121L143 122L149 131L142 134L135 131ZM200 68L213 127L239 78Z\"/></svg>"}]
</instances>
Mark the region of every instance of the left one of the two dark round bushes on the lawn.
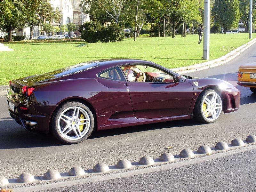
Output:
<instances>
[{"instance_id":1,"label":"left one of the two dark round bushes on the lawn","mask_svg":"<svg viewBox=\"0 0 256 192\"><path fill-rule=\"evenodd\" d=\"M96 43L99 40L99 33L102 29L100 21L85 22L79 26L81 38L88 43Z\"/></svg>"}]
</instances>

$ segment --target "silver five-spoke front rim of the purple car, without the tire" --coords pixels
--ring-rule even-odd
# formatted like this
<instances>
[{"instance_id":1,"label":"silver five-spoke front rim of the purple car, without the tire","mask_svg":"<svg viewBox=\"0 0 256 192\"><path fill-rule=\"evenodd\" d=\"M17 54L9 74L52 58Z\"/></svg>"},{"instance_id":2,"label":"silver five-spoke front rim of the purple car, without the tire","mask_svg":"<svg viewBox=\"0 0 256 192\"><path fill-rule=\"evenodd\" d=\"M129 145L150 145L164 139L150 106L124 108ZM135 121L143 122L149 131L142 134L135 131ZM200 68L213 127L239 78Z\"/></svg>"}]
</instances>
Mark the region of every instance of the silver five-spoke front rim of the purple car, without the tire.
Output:
<instances>
[{"instance_id":1,"label":"silver five-spoke front rim of the purple car, without the tire","mask_svg":"<svg viewBox=\"0 0 256 192\"><path fill-rule=\"evenodd\" d=\"M208 121L216 120L222 113L222 100L215 91L207 93L201 103L201 111Z\"/></svg>"}]
</instances>

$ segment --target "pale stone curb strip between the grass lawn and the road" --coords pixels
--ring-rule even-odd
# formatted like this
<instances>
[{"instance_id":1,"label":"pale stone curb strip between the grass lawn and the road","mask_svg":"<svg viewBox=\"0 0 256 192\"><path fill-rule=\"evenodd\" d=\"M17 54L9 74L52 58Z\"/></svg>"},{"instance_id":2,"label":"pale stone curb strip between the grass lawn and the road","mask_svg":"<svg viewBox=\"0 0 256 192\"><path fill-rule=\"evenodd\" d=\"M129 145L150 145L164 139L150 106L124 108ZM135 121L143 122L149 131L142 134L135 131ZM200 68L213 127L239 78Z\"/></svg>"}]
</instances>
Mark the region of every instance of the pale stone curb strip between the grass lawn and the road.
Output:
<instances>
[{"instance_id":1,"label":"pale stone curb strip between the grass lawn and the road","mask_svg":"<svg viewBox=\"0 0 256 192\"><path fill-rule=\"evenodd\" d=\"M200 71L200 70L216 67L216 66L222 65L222 64L227 63L228 61L234 59L237 55L239 55L240 53L242 53L246 49L248 49L250 46L252 46L255 42L256 42L256 38L252 39L248 43L236 48L235 50L229 52L228 54L226 54L218 59L210 60L210 61L207 61L204 63L190 65L187 67L172 68L171 70L175 71L179 74L186 74L186 73L191 73L191 72L195 72L195 71ZM7 90L9 90L9 89L10 89L9 85L0 86L0 96L7 95L8 94Z\"/></svg>"}]
</instances>

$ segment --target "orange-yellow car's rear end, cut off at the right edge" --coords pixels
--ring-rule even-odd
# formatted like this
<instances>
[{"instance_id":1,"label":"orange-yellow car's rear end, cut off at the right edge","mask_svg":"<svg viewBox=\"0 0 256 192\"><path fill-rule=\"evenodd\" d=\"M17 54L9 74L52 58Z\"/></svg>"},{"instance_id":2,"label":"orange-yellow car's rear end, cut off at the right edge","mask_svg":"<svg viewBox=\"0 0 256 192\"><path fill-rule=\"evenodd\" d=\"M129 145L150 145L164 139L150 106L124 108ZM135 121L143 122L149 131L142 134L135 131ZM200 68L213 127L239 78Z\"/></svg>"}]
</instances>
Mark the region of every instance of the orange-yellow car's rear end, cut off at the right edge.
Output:
<instances>
[{"instance_id":1,"label":"orange-yellow car's rear end, cut off at the right edge","mask_svg":"<svg viewBox=\"0 0 256 192\"><path fill-rule=\"evenodd\" d=\"M250 87L251 91L256 93L256 62L240 66L237 76L237 84Z\"/></svg>"}]
</instances>

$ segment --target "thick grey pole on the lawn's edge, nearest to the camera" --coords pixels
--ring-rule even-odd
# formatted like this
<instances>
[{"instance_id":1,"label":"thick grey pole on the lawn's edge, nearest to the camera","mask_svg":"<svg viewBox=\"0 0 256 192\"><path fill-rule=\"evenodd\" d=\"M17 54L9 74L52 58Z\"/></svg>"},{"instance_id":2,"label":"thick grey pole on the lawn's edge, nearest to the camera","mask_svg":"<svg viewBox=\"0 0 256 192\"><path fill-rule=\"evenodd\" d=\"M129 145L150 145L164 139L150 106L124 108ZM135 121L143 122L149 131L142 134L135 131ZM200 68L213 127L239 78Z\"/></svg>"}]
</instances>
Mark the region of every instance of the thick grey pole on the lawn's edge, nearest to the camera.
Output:
<instances>
[{"instance_id":1,"label":"thick grey pole on the lawn's edge, nearest to the camera","mask_svg":"<svg viewBox=\"0 0 256 192\"><path fill-rule=\"evenodd\" d=\"M210 0L204 0L204 46L203 60L210 58Z\"/></svg>"}]
</instances>

